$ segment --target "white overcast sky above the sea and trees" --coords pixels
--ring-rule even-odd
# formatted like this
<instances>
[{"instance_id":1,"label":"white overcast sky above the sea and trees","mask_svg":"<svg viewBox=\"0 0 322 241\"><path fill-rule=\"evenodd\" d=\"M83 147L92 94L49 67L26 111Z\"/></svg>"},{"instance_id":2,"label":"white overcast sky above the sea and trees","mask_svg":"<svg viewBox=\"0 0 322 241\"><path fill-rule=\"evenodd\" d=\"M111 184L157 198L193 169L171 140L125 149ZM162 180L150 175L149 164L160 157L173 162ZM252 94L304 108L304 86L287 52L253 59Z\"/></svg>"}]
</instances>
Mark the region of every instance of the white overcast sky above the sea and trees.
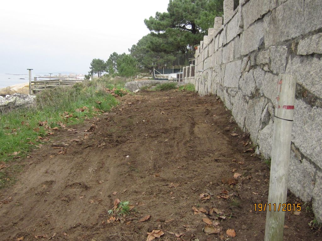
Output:
<instances>
[{"instance_id":1,"label":"white overcast sky above the sea and trees","mask_svg":"<svg viewBox=\"0 0 322 241\"><path fill-rule=\"evenodd\" d=\"M166 12L169 0L5 0L0 11L0 73L87 74L149 31L144 19Z\"/></svg>"}]
</instances>

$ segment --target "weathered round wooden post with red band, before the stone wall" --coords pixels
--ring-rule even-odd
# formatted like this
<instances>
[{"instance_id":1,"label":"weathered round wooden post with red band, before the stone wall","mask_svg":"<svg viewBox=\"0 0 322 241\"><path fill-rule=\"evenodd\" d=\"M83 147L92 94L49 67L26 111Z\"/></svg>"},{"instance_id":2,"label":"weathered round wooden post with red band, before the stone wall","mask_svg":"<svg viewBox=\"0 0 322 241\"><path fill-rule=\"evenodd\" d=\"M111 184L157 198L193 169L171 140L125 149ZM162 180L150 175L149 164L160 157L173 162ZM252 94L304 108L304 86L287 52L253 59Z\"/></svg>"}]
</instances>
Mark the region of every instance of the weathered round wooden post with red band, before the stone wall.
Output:
<instances>
[{"instance_id":1,"label":"weathered round wooden post with red band, before the stone wall","mask_svg":"<svg viewBox=\"0 0 322 241\"><path fill-rule=\"evenodd\" d=\"M279 75L275 105L270 189L266 205L265 241L282 241L289 179L289 157L293 123L296 77Z\"/></svg>"}]
</instances>

